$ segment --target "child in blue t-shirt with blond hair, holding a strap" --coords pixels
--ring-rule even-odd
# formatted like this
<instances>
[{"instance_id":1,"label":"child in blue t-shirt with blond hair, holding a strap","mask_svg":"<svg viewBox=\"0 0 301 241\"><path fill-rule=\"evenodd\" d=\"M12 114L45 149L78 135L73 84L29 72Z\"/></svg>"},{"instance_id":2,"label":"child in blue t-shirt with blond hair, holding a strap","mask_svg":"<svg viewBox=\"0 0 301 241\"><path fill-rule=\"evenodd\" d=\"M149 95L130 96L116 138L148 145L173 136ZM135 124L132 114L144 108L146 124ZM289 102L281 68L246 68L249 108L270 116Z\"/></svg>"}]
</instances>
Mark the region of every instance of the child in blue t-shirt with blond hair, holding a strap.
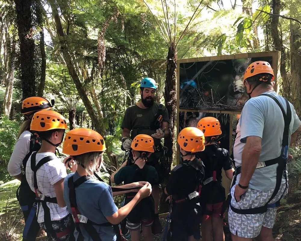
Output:
<instances>
[{"instance_id":1,"label":"child in blue t-shirt with blond hair, holding a strap","mask_svg":"<svg viewBox=\"0 0 301 241\"><path fill-rule=\"evenodd\" d=\"M104 183L95 172L103 164L105 150L104 138L94 130L79 128L66 134L63 153L77 163L77 170L65 178L64 200L75 220L74 236L77 241L123 240L118 224L151 194L151 185L147 182L118 188ZM137 192L137 188L141 189ZM134 197L118 209L113 196L127 192L133 193Z\"/></svg>"}]
</instances>

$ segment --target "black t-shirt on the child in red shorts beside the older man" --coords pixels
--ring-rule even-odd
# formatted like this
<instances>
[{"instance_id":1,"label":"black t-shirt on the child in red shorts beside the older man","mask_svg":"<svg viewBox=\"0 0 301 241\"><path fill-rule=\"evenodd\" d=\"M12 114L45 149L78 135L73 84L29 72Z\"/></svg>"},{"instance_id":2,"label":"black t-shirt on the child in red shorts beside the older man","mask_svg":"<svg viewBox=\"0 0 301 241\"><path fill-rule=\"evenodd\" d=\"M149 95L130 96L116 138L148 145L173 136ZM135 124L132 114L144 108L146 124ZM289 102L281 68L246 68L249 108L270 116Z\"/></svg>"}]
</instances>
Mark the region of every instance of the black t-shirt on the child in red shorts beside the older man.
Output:
<instances>
[{"instance_id":1,"label":"black t-shirt on the child in red shorts beside the older man","mask_svg":"<svg viewBox=\"0 0 301 241\"><path fill-rule=\"evenodd\" d=\"M222 152L223 150L223 152ZM214 157L213 155L216 155ZM226 149L220 149L216 145L209 145L205 147L203 152L198 152L196 155L203 161L205 165L205 177L206 180L212 177L213 171L216 171L216 179L222 182L222 169L225 171L233 168L232 161L229 152Z\"/></svg>"}]
</instances>

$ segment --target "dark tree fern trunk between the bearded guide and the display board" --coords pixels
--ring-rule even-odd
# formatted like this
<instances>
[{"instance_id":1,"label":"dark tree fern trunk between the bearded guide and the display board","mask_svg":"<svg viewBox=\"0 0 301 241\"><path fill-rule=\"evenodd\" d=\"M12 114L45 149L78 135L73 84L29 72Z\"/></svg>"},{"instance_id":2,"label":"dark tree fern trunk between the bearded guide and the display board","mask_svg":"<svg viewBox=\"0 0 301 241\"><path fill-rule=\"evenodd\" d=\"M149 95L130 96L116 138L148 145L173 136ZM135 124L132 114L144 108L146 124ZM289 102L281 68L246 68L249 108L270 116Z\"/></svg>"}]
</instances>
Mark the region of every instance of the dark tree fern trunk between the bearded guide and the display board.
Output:
<instances>
[{"instance_id":1,"label":"dark tree fern trunk between the bearded guide and the display board","mask_svg":"<svg viewBox=\"0 0 301 241\"><path fill-rule=\"evenodd\" d=\"M169 119L169 136L164 138L164 146L168 148L167 156L168 163L171 167L172 164L172 154L173 154L173 143L175 137L175 120L177 114L177 92L176 92L176 70L177 70L177 50L175 49L175 45L169 47L167 54L167 68L166 68L166 81L165 81L165 89L164 89L164 99L165 99L165 107L168 111L168 119ZM165 177L163 183L166 183L168 177ZM161 192L160 197L160 212L167 212L169 207L165 202L165 195L163 194L163 190Z\"/></svg>"}]
</instances>

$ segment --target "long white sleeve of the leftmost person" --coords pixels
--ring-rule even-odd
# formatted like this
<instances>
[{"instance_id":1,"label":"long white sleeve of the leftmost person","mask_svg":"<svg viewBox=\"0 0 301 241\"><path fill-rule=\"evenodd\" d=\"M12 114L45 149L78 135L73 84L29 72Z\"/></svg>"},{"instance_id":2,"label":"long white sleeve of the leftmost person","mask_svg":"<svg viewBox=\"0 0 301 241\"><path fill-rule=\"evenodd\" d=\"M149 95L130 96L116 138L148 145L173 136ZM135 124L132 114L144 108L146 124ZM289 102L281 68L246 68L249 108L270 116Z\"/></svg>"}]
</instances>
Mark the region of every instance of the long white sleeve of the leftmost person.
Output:
<instances>
[{"instance_id":1,"label":"long white sleeve of the leftmost person","mask_svg":"<svg viewBox=\"0 0 301 241\"><path fill-rule=\"evenodd\" d=\"M11 176L17 176L21 174L21 166L25 156L29 153L31 133L26 130L17 139L14 151L9 159L7 171Z\"/></svg>"}]
</instances>

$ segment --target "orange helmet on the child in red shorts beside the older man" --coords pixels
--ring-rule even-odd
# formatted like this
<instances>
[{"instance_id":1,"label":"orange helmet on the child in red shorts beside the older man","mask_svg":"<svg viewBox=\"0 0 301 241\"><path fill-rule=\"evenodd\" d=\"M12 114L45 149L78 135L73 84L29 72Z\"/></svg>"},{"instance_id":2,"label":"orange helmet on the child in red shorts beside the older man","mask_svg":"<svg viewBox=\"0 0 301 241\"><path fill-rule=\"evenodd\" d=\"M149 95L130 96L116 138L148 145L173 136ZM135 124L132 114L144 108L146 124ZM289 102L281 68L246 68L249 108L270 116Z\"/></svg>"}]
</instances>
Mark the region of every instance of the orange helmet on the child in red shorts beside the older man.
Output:
<instances>
[{"instance_id":1,"label":"orange helmet on the child in red shorts beside the older man","mask_svg":"<svg viewBox=\"0 0 301 241\"><path fill-rule=\"evenodd\" d=\"M200 129L204 136L218 136L222 134L221 124L215 117L204 117L197 123L197 128Z\"/></svg>"}]
</instances>

